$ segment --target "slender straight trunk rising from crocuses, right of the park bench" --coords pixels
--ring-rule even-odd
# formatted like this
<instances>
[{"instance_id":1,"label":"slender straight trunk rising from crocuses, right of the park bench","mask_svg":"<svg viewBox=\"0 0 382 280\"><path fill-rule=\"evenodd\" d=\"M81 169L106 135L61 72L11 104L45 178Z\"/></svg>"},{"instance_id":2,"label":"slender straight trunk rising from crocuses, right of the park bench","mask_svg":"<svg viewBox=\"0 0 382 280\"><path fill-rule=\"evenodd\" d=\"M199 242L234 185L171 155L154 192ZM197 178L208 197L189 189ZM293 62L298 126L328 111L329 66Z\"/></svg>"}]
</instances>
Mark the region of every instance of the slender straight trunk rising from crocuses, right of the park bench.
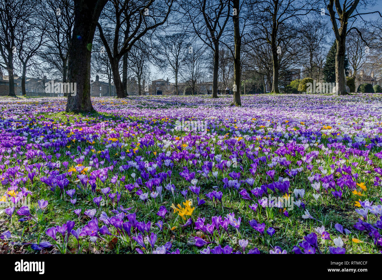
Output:
<instances>
[{"instance_id":1,"label":"slender straight trunk rising from crocuses, right of the park bench","mask_svg":"<svg viewBox=\"0 0 382 280\"><path fill-rule=\"evenodd\" d=\"M240 37L240 26L239 26L239 2L240 0L233 0L233 8L236 8L236 15L233 16L233 33L235 40L235 57L233 58L233 102L232 106L241 106L240 99L240 48L241 48L241 37Z\"/></svg>"}]
</instances>

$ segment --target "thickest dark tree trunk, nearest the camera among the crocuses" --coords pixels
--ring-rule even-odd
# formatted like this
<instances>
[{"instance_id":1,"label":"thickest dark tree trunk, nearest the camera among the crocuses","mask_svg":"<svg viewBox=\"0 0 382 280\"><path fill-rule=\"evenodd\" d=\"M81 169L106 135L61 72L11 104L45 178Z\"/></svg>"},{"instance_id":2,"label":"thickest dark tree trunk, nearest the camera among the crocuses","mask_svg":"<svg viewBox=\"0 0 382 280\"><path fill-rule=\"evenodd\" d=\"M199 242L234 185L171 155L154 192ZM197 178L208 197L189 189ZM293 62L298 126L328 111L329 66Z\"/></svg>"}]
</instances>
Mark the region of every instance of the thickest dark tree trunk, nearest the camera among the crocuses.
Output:
<instances>
[{"instance_id":1,"label":"thickest dark tree trunk, nearest the camera among the crocuses","mask_svg":"<svg viewBox=\"0 0 382 280\"><path fill-rule=\"evenodd\" d=\"M76 92L68 93L66 112L90 112L90 60L95 27L107 0L74 0L74 26L69 48L68 82Z\"/></svg>"}]
</instances>

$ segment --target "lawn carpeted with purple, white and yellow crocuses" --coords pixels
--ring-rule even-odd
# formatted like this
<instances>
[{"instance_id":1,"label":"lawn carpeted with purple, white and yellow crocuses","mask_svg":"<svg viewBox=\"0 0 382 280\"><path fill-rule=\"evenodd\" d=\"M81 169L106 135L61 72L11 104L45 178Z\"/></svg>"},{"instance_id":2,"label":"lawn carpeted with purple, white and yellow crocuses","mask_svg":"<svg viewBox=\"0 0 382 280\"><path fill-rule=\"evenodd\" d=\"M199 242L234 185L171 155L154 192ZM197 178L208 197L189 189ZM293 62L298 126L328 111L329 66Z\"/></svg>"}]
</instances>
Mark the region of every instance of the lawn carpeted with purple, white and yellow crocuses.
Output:
<instances>
[{"instance_id":1,"label":"lawn carpeted with purple, white and yellow crocuses","mask_svg":"<svg viewBox=\"0 0 382 280\"><path fill-rule=\"evenodd\" d=\"M381 253L382 95L231 98L2 97L0 252Z\"/></svg>"}]
</instances>

